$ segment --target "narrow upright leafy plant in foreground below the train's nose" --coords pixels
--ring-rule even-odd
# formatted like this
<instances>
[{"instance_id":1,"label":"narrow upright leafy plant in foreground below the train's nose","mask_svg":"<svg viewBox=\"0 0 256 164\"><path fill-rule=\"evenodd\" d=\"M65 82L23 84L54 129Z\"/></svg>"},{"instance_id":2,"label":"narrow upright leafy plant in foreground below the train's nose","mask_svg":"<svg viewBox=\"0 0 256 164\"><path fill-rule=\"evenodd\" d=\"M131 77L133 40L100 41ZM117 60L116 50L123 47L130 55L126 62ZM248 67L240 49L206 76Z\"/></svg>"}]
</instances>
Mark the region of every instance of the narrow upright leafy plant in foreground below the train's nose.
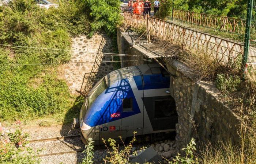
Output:
<instances>
[{"instance_id":1,"label":"narrow upright leafy plant in foreground below the train's nose","mask_svg":"<svg viewBox=\"0 0 256 164\"><path fill-rule=\"evenodd\" d=\"M81 164L93 164L93 155L94 155L93 142L94 142L93 138L88 138L88 144L85 145L85 150L83 151L83 153L85 154Z\"/></svg>"}]
</instances>

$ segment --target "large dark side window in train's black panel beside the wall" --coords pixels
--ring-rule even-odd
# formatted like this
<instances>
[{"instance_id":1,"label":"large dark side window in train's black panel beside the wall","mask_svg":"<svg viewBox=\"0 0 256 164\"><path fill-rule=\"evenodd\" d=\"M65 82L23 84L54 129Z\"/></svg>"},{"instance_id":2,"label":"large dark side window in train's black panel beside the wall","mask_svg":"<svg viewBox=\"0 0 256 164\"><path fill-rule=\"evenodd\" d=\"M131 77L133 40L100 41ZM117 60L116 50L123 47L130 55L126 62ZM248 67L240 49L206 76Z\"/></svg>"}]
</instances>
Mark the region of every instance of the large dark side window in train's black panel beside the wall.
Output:
<instances>
[{"instance_id":1,"label":"large dark side window in train's black panel beside the wall","mask_svg":"<svg viewBox=\"0 0 256 164\"><path fill-rule=\"evenodd\" d=\"M176 114L176 105L173 98L156 98L154 118L166 118Z\"/></svg>"}]
</instances>

